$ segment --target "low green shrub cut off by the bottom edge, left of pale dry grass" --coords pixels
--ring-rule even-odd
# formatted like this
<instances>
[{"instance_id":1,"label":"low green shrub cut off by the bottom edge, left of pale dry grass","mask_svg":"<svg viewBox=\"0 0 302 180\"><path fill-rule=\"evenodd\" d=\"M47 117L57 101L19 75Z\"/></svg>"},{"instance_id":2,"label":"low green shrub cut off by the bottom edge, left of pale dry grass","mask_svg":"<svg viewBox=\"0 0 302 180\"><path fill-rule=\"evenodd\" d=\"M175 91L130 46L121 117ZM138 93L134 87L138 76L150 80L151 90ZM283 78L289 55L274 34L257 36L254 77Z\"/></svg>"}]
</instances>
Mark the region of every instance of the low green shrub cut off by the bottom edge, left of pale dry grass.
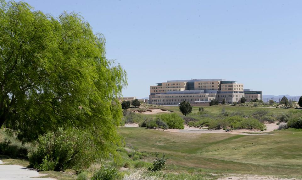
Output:
<instances>
[{"instance_id":1,"label":"low green shrub cut off by the bottom edge, left of pale dry grass","mask_svg":"<svg viewBox=\"0 0 302 180\"><path fill-rule=\"evenodd\" d=\"M91 178L91 180L113 180L117 178L117 170L114 167L102 166Z\"/></svg>"}]
</instances>

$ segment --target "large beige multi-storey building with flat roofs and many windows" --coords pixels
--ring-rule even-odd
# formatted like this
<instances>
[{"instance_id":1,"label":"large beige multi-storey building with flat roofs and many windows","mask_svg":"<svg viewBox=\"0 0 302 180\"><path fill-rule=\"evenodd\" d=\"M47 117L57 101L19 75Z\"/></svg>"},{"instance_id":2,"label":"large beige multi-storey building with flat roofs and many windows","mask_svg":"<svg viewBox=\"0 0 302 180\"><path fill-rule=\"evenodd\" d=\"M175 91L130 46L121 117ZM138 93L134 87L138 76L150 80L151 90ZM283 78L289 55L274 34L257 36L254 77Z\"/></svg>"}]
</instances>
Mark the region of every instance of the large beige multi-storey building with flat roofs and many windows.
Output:
<instances>
[{"instance_id":1,"label":"large beige multi-storey building with flat roofs and many windows","mask_svg":"<svg viewBox=\"0 0 302 180\"><path fill-rule=\"evenodd\" d=\"M256 96L259 100L262 99L262 92L245 91L243 84L236 81L226 81L225 79L175 80L150 86L149 103L177 105L182 101L189 101L191 104L201 104L209 103L214 99L220 102L225 99L227 103L233 103L245 97L246 92L250 92L248 93L249 101L255 99L253 97Z\"/></svg>"}]
</instances>

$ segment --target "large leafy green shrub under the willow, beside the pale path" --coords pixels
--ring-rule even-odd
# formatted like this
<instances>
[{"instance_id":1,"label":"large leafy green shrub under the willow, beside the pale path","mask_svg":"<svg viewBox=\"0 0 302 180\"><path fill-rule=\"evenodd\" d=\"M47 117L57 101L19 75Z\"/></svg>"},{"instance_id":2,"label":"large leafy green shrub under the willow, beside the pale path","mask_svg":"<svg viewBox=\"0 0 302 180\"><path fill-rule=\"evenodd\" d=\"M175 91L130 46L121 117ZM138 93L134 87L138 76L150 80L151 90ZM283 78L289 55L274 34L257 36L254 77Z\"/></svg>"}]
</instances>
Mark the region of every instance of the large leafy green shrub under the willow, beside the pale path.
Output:
<instances>
[{"instance_id":1,"label":"large leafy green shrub under the willow, beside the pale path","mask_svg":"<svg viewBox=\"0 0 302 180\"><path fill-rule=\"evenodd\" d=\"M30 167L39 169L54 163L55 171L87 168L95 159L93 144L86 131L59 129L48 132L38 138L37 148L29 153Z\"/></svg>"}]
</instances>

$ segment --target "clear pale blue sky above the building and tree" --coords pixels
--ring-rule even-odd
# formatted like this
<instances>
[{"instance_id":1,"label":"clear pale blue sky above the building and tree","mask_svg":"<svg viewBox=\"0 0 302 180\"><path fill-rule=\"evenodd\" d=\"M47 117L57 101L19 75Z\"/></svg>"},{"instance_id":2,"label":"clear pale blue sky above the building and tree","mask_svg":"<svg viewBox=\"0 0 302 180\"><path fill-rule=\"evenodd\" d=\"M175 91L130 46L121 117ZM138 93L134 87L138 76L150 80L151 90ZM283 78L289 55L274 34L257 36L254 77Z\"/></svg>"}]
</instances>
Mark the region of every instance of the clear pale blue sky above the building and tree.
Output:
<instances>
[{"instance_id":1,"label":"clear pale blue sky above the building and tree","mask_svg":"<svg viewBox=\"0 0 302 180\"><path fill-rule=\"evenodd\" d=\"M25 0L80 13L128 73L124 97L156 82L225 78L263 94L302 95L302 1Z\"/></svg>"}]
</instances>

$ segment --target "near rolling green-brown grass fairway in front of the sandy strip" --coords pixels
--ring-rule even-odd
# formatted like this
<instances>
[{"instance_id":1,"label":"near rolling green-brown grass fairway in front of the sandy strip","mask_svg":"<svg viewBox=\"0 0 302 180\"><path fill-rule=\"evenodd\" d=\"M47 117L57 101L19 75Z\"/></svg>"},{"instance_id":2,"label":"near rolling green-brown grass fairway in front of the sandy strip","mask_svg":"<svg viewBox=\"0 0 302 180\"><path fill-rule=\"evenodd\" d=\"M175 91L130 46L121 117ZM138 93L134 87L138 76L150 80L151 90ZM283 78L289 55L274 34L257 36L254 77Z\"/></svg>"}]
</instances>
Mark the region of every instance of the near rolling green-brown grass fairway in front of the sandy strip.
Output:
<instances>
[{"instance_id":1,"label":"near rolling green-brown grass fairway in front of the sandy strip","mask_svg":"<svg viewBox=\"0 0 302 180\"><path fill-rule=\"evenodd\" d=\"M121 127L119 132L126 143L141 151L165 152L169 158L168 167L289 177L302 175L302 130L274 131L273 135L232 135Z\"/></svg>"}]
</instances>

